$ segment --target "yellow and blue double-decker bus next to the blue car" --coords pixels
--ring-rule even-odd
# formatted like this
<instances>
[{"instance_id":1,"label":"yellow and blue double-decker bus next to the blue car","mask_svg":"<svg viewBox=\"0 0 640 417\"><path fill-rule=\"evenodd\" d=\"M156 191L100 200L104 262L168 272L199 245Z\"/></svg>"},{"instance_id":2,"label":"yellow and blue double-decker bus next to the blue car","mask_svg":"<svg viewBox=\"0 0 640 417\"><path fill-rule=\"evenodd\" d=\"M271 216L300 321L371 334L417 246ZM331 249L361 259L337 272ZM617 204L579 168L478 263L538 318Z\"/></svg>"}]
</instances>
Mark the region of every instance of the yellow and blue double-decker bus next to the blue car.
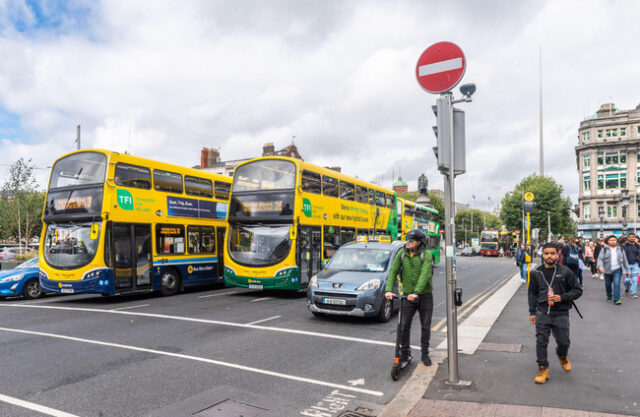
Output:
<instances>
[{"instance_id":1,"label":"yellow and blue double-decker bus next to the blue car","mask_svg":"<svg viewBox=\"0 0 640 417\"><path fill-rule=\"evenodd\" d=\"M222 283L231 179L99 149L54 163L40 285L115 295Z\"/></svg>"}]
</instances>

